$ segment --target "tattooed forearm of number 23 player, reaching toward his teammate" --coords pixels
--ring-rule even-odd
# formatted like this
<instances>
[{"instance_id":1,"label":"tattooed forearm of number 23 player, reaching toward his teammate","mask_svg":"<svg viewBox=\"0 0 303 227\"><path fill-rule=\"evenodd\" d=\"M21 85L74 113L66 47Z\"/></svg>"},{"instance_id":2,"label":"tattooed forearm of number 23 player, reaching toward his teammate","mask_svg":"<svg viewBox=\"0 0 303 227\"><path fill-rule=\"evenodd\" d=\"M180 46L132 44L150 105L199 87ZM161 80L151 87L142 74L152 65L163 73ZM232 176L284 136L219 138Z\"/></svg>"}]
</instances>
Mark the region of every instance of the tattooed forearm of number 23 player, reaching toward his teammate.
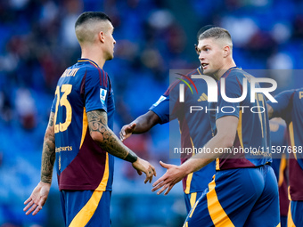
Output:
<instances>
[{"instance_id":1,"label":"tattooed forearm of number 23 player, reaching toward his teammate","mask_svg":"<svg viewBox=\"0 0 303 227\"><path fill-rule=\"evenodd\" d=\"M107 126L107 113L102 110L93 110L87 113L89 131L101 134L98 144L102 149L108 151L111 155L125 159L129 162L135 162L136 154L129 150Z\"/></svg>"}]
</instances>

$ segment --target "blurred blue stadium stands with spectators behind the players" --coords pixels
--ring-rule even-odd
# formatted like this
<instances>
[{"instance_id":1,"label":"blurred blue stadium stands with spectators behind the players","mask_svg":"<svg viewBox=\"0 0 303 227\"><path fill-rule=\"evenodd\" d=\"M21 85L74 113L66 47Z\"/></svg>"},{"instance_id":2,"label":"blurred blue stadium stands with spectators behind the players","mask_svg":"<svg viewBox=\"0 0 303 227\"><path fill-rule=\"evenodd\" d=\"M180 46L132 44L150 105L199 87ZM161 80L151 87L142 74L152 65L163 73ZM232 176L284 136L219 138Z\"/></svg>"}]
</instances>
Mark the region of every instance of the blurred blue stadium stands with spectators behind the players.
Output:
<instances>
[{"instance_id":1,"label":"blurred blue stadium stands with spectators behind the players","mask_svg":"<svg viewBox=\"0 0 303 227\"><path fill-rule=\"evenodd\" d=\"M105 64L115 91L114 131L145 113L169 84L169 69L195 69L197 31L227 28L242 69L302 69L301 0L6 0L0 2L0 226L63 226L56 176L37 216L23 201L39 182L41 150L54 88L80 57L74 23L81 12L106 12L115 27L115 58ZM303 85L300 70L271 74L281 89ZM151 160L169 159L169 126L135 135L127 146ZM116 158L112 226L181 226L181 184L151 193L132 166Z\"/></svg>"}]
</instances>

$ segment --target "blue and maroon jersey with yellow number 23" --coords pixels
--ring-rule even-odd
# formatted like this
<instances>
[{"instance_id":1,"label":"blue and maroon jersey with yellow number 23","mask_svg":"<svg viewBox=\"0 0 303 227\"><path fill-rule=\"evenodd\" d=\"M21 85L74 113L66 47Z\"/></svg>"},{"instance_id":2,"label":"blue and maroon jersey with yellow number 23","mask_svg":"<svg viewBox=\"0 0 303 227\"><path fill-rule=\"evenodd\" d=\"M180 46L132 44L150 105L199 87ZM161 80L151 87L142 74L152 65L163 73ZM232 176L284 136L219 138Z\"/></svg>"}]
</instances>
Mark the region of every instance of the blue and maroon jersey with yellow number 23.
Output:
<instances>
[{"instance_id":1,"label":"blue and maroon jersey with yellow number 23","mask_svg":"<svg viewBox=\"0 0 303 227\"><path fill-rule=\"evenodd\" d=\"M60 190L111 191L114 159L89 134L86 113L102 109L112 129L115 111L108 74L79 59L60 77L52 111Z\"/></svg>"}]
</instances>

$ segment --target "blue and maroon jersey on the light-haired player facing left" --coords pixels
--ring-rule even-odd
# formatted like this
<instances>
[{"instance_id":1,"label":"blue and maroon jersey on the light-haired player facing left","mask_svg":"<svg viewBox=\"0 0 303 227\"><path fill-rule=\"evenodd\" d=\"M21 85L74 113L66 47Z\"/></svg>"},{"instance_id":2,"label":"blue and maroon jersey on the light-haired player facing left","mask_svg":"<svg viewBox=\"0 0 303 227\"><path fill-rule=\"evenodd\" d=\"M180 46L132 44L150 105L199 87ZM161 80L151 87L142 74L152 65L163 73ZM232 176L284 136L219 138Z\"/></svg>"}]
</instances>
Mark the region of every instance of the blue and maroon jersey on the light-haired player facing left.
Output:
<instances>
[{"instance_id":1,"label":"blue and maroon jersey on the light-haired player facing left","mask_svg":"<svg viewBox=\"0 0 303 227\"><path fill-rule=\"evenodd\" d=\"M263 93L256 93L254 102L250 102L252 78L254 77L242 69L236 67L228 69L217 81L217 102L209 102L210 122L215 134L217 134L217 119L226 116L239 118L233 147L217 158L217 170L263 166L272 160L268 150L270 132L265 96ZM225 80L225 84L222 80ZM225 91L226 97L238 99L245 91L244 86L247 88L244 100L226 101L222 91ZM258 83L256 87L260 87Z\"/></svg>"}]
</instances>

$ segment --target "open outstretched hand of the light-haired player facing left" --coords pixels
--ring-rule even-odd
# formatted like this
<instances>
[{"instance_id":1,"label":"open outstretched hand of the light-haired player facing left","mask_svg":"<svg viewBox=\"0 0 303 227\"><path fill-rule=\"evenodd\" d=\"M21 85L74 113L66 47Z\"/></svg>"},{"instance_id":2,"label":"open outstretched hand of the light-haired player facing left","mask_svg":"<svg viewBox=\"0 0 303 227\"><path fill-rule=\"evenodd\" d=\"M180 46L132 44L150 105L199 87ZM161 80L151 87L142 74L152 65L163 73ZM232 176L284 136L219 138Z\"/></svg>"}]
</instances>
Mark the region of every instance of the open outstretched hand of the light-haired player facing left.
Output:
<instances>
[{"instance_id":1,"label":"open outstretched hand of the light-haired player facing left","mask_svg":"<svg viewBox=\"0 0 303 227\"><path fill-rule=\"evenodd\" d=\"M160 161L160 165L164 168L167 168L167 172L163 174L156 182L152 184L151 191L160 191L157 192L160 195L163 191L166 191L164 195L166 196L168 192L174 187L177 182L180 182L186 174L180 168L180 166L169 165Z\"/></svg>"}]
</instances>

